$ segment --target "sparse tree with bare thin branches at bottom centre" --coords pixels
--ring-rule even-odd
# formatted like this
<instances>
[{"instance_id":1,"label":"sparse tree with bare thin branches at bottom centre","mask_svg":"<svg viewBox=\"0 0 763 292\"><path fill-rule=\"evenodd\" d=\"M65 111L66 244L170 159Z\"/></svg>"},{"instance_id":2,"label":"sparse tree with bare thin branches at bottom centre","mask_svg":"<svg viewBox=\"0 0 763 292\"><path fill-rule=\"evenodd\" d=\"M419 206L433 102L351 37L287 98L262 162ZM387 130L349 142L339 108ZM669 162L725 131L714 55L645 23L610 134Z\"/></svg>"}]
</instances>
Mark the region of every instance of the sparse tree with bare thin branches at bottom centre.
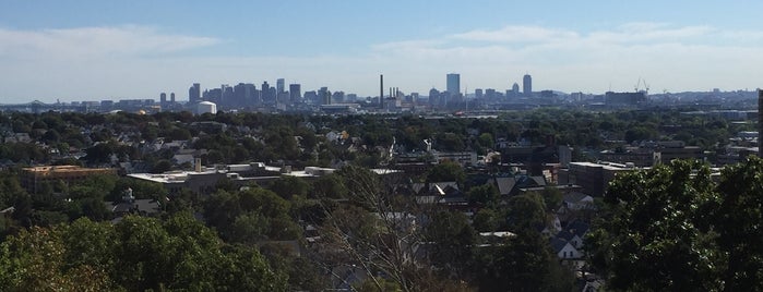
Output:
<instances>
[{"instance_id":1,"label":"sparse tree with bare thin branches at bottom centre","mask_svg":"<svg viewBox=\"0 0 763 292\"><path fill-rule=\"evenodd\" d=\"M368 275L382 275L402 291L416 290L413 271L415 248L421 241L409 198L395 196L382 178L369 170L346 166L335 172L343 178L349 204L329 210L321 227L325 251L335 265L356 265ZM329 267L333 268L333 267ZM382 290L382 281L374 280Z\"/></svg>"}]
</instances>

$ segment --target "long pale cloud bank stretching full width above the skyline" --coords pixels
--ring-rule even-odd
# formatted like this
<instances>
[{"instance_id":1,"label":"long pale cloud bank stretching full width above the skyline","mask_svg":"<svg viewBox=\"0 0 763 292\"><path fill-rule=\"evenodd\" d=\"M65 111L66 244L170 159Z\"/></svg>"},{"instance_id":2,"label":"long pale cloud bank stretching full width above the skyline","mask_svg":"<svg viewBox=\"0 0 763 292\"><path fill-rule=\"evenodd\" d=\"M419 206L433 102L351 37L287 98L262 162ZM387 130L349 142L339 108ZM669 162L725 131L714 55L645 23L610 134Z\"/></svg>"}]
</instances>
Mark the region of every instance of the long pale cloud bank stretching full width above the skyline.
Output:
<instances>
[{"instance_id":1,"label":"long pale cloud bank stretching full width above the skyline","mask_svg":"<svg viewBox=\"0 0 763 292\"><path fill-rule=\"evenodd\" d=\"M529 73L537 89L601 93L632 90L639 78L652 92L759 87L763 31L628 23L611 28L511 25L429 39L366 44L355 54L231 57L222 46L242 41L163 33L151 26L21 31L0 28L0 102L32 99L100 100L187 97L193 82L255 83L277 77L361 96L390 86L426 94L461 73L462 87L504 90ZM313 48L310 48L313 49ZM314 56L314 53L313 53ZM463 90L464 88L462 88Z\"/></svg>"}]
</instances>

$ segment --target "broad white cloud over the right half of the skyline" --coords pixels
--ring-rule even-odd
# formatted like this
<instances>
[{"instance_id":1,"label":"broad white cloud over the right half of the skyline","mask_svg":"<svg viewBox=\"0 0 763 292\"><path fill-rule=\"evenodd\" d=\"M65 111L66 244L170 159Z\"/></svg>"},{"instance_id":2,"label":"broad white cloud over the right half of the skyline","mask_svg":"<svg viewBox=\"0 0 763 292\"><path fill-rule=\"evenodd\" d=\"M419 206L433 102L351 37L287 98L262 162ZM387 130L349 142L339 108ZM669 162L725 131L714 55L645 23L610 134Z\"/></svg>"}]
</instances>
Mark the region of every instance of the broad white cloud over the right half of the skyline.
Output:
<instances>
[{"instance_id":1,"label":"broad white cloud over the right half of the skyline","mask_svg":"<svg viewBox=\"0 0 763 292\"><path fill-rule=\"evenodd\" d=\"M412 64L412 72L439 69L439 86L443 86L445 72L455 71L470 88L499 90L520 82L525 72L534 75L538 88L568 92L600 93L610 84L615 90L630 90L639 77L647 78L653 88L670 90L738 89L756 86L749 70L750 64L763 64L763 56L756 53L763 44L751 38L763 40L762 33L659 23L588 33L508 26L410 40L400 47L379 46L385 50L377 53ZM748 41L734 40L738 35L747 36Z\"/></svg>"}]
</instances>

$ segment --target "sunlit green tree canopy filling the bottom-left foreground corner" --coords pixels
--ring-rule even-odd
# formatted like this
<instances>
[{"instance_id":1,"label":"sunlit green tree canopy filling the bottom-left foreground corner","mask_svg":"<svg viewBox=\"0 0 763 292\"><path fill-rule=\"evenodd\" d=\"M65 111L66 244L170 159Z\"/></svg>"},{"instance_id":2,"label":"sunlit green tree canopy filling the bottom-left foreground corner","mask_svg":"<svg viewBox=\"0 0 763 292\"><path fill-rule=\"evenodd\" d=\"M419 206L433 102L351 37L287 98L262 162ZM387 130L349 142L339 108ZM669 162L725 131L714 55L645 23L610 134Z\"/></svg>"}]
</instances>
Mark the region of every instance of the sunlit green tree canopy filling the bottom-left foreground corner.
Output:
<instances>
[{"instance_id":1,"label":"sunlit green tree canopy filling the bottom-left foreground corner","mask_svg":"<svg viewBox=\"0 0 763 292\"><path fill-rule=\"evenodd\" d=\"M23 230L0 244L0 263L5 291L286 291L287 280L189 214Z\"/></svg>"}]
</instances>

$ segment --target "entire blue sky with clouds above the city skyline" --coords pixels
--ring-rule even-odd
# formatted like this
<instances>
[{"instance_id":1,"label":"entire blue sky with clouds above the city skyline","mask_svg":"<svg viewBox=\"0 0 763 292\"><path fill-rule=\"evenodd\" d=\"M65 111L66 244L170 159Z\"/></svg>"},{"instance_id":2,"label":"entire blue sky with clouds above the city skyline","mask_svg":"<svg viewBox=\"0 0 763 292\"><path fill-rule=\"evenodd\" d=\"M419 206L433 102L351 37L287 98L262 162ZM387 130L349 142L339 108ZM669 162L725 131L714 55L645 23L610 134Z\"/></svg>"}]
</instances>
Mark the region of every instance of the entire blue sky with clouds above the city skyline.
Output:
<instances>
[{"instance_id":1,"label":"entire blue sky with clouds above the city skyline","mask_svg":"<svg viewBox=\"0 0 763 292\"><path fill-rule=\"evenodd\" d=\"M0 0L0 104L154 98L266 81L601 94L754 89L763 1Z\"/></svg>"}]
</instances>

